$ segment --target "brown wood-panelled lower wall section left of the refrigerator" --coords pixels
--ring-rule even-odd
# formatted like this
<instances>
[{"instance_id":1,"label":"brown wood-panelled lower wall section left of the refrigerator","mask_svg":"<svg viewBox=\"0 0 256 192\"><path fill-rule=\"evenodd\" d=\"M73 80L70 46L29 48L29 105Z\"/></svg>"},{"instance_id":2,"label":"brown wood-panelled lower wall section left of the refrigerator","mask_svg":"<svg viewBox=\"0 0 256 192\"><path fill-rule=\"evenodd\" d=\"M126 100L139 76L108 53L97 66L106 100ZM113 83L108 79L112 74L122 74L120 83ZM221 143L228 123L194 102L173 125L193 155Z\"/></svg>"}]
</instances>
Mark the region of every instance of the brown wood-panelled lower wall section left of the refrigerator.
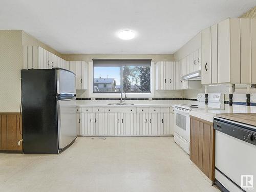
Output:
<instances>
[{"instance_id":1,"label":"brown wood-panelled lower wall section left of the refrigerator","mask_svg":"<svg viewBox=\"0 0 256 192\"><path fill-rule=\"evenodd\" d=\"M0 153L22 153L22 117L19 113L0 113Z\"/></svg>"}]
</instances>

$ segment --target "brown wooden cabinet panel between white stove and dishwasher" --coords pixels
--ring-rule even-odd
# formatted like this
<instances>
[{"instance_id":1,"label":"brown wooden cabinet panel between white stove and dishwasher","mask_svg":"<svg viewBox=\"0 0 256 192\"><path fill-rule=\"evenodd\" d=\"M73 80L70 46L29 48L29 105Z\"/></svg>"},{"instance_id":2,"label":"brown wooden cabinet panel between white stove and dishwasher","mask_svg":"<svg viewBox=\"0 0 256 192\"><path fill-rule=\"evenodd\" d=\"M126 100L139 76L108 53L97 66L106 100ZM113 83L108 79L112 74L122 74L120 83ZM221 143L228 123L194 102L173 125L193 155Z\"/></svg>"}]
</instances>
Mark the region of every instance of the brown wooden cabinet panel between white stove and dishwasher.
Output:
<instances>
[{"instance_id":1,"label":"brown wooden cabinet panel between white stove and dishwasher","mask_svg":"<svg viewBox=\"0 0 256 192\"><path fill-rule=\"evenodd\" d=\"M214 123L190 116L190 160L214 180L215 131Z\"/></svg>"}]
</instances>

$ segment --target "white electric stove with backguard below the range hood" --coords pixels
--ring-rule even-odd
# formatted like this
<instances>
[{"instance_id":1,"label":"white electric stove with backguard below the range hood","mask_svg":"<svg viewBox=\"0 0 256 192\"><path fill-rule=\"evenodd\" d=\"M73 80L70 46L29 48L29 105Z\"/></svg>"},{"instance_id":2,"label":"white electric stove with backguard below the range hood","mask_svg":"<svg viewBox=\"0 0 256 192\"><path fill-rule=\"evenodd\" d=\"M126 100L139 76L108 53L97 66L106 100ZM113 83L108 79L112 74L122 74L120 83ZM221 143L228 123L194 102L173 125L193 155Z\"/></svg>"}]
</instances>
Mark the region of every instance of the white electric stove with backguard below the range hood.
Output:
<instances>
[{"instance_id":1,"label":"white electric stove with backguard below the range hood","mask_svg":"<svg viewBox=\"0 0 256 192\"><path fill-rule=\"evenodd\" d=\"M176 104L174 141L189 155L190 145L190 117L189 114L193 110L205 109L205 94L197 95L197 104ZM208 109L220 110L224 109L224 96L221 93L208 94Z\"/></svg>"}]
</instances>

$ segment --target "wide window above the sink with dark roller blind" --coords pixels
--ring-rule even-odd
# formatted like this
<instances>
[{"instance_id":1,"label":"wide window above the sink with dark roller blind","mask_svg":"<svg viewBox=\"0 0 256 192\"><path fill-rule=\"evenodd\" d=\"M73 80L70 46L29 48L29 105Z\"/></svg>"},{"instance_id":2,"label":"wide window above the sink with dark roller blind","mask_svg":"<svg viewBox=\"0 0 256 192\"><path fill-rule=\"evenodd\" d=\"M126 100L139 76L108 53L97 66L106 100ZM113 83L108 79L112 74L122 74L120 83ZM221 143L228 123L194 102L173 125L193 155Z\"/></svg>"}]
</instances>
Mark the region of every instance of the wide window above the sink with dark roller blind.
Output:
<instances>
[{"instance_id":1,"label":"wide window above the sink with dark roller blind","mask_svg":"<svg viewBox=\"0 0 256 192\"><path fill-rule=\"evenodd\" d=\"M94 93L151 93L151 60L93 59Z\"/></svg>"}]
</instances>

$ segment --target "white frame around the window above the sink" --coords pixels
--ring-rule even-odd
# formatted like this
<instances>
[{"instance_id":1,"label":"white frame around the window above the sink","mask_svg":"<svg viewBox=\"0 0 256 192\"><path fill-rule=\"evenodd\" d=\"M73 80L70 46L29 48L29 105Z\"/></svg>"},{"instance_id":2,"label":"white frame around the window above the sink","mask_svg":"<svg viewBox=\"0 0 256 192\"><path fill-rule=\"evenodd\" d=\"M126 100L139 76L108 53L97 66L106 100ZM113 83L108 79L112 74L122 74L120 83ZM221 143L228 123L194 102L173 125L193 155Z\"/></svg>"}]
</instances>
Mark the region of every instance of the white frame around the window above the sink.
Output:
<instances>
[{"instance_id":1,"label":"white frame around the window above the sink","mask_svg":"<svg viewBox=\"0 0 256 192\"><path fill-rule=\"evenodd\" d=\"M125 59L118 59L120 61L125 61ZM140 60L140 59L133 59ZM147 59L149 60L149 59ZM104 65L102 65L103 67ZM108 65L105 65L108 66ZM121 66L121 65L120 65ZM125 66L124 64L122 66ZM154 97L155 90L155 63L151 61L151 92L141 93L141 92L125 92L127 98L152 98ZM121 70L122 72L122 70ZM122 83L122 78L121 78ZM94 64L93 61L89 62L89 97L90 98L120 98L121 92L94 92Z\"/></svg>"}]
</instances>

